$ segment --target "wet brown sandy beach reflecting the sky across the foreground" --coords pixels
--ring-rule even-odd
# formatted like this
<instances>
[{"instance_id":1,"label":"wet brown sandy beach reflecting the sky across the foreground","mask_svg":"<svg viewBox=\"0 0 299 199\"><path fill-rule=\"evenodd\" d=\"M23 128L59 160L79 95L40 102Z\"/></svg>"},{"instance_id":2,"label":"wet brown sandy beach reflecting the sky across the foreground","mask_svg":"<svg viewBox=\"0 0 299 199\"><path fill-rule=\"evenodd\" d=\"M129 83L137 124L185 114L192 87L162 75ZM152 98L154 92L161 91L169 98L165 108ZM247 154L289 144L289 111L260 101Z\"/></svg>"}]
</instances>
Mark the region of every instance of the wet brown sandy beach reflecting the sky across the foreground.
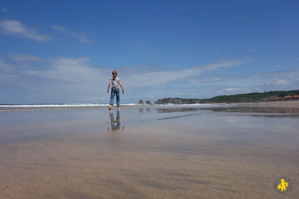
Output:
<instances>
[{"instance_id":1,"label":"wet brown sandy beach reflecting the sky across the foreground","mask_svg":"<svg viewBox=\"0 0 299 199\"><path fill-rule=\"evenodd\" d=\"M2 112L0 198L298 198L297 111ZM273 188L279 176L287 195Z\"/></svg>"}]
</instances>

